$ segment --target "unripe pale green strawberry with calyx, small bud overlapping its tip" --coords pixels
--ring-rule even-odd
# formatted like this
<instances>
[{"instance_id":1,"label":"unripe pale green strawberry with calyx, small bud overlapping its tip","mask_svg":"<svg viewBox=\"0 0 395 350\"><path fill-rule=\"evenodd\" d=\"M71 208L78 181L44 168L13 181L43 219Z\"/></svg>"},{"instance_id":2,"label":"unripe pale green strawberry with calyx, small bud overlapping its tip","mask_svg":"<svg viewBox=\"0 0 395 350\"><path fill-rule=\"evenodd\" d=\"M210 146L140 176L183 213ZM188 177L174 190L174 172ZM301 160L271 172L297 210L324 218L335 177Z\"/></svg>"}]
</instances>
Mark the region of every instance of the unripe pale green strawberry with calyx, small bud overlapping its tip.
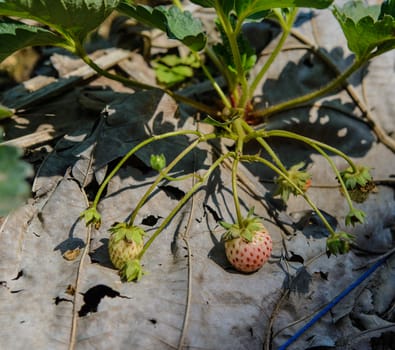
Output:
<instances>
[{"instance_id":1,"label":"unripe pale green strawberry with calyx, small bud overlapping its tip","mask_svg":"<svg viewBox=\"0 0 395 350\"><path fill-rule=\"evenodd\" d=\"M127 273L131 271L130 264L137 260L144 247L144 230L137 226L129 226L127 223L118 223L110 228L111 236L108 243L108 252L113 265L121 271L126 280L136 275ZM135 265L134 263L132 265ZM129 267L127 267L129 266ZM133 270L133 269L132 269ZM126 275L125 275L126 274ZM138 274L136 275L136 278ZM134 278L135 279L135 278Z\"/></svg>"}]
</instances>

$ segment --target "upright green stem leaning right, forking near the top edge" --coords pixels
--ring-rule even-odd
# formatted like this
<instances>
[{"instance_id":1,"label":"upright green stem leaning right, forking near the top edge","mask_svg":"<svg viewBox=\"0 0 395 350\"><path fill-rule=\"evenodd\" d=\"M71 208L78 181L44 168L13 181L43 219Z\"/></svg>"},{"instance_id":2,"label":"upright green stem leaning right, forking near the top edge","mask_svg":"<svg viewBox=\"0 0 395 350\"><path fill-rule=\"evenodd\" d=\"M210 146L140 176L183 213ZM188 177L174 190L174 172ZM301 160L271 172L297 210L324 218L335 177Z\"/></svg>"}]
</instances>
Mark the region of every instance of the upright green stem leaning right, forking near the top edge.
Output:
<instances>
[{"instance_id":1,"label":"upright green stem leaning right, forking near the top edge","mask_svg":"<svg viewBox=\"0 0 395 350\"><path fill-rule=\"evenodd\" d=\"M291 28L292 28L292 25L295 21L297 13L298 13L297 8L294 8L288 17L287 22L284 22L284 20L281 16L281 12L280 12L280 14L277 15L277 17L279 18L281 27L283 29L281 38L277 42L276 47L274 48L273 52L271 53L271 55L269 56L269 58L263 65L262 69L258 72L258 74L255 76L253 82L251 83L250 90L249 90L249 96L254 95L258 84L260 83L260 81L262 80L262 78L264 77L264 75L266 74L266 72L268 71L270 66L272 65L273 61L277 58L278 54L281 52L281 49L284 46L285 40L288 38L289 33L291 32Z\"/></svg>"}]
</instances>

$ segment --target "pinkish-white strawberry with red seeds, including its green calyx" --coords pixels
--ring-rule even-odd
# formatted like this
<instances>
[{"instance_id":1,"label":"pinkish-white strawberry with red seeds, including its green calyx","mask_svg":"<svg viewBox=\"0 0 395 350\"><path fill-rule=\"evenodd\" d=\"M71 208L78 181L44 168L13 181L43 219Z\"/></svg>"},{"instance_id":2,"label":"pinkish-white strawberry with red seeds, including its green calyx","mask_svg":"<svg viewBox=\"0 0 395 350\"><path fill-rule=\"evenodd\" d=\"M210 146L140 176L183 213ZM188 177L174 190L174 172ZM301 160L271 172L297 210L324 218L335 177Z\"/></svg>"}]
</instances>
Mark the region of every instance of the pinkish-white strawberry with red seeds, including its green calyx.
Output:
<instances>
[{"instance_id":1,"label":"pinkish-white strawberry with red seeds, including its green calyx","mask_svg":"<svg viewBox=\"0 0 395 350\"><path fill-rule=\"evenodd\" d=\"M242 224L222 223L227 232L222 239L232 266L240 272L259 270L272 252L272 239L259 218L249 214Z\"/></svg>"}]
</instances>

